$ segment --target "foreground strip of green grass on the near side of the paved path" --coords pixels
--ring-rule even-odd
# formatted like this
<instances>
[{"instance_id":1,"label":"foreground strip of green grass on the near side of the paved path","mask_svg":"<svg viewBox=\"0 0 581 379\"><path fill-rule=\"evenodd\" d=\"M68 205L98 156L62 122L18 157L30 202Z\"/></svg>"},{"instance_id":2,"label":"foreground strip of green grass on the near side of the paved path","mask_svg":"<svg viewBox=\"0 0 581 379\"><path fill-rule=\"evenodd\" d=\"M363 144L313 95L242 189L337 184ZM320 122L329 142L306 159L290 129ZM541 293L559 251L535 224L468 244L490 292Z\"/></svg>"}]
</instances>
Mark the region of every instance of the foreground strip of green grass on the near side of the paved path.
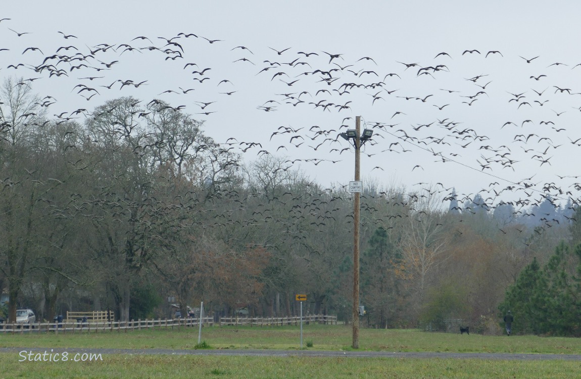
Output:
<instances>
[{"instance_id":1,"label":"foreground strip of green grass on the near side of the paved path","mask_svg":"<svg viewBox=\"0 0 581 379\"><path fill-rule=\"evenodd\" d=\"M578 362L349 357L103 356L102 362L26 362L0 355L0 378L581 378Z\"/></svg>"}]
</instances>

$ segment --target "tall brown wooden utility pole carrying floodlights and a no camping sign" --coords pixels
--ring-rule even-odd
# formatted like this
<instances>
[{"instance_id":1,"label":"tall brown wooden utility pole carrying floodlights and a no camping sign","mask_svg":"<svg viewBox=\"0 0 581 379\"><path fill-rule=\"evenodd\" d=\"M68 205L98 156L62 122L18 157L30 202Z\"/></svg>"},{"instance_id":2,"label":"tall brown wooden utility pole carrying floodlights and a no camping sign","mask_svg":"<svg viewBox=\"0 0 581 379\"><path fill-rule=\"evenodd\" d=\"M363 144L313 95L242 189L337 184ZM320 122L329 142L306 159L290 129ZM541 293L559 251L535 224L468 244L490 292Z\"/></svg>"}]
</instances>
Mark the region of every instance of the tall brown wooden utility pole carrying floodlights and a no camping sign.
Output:
<instances>
[{"instance_id":1,"label":"tall brown wooden utility pole carrying floodlights and a no camping sign","mask_svg":"<svg viewBox=\"0 0 581 379\"><path fill-rule=\"evenodd\" d=\"M361 116L355 117L355 181L360 180ZM353 349L359 348L359 208L360 193L353 198Z\"/></svg>"}]
</instances>

